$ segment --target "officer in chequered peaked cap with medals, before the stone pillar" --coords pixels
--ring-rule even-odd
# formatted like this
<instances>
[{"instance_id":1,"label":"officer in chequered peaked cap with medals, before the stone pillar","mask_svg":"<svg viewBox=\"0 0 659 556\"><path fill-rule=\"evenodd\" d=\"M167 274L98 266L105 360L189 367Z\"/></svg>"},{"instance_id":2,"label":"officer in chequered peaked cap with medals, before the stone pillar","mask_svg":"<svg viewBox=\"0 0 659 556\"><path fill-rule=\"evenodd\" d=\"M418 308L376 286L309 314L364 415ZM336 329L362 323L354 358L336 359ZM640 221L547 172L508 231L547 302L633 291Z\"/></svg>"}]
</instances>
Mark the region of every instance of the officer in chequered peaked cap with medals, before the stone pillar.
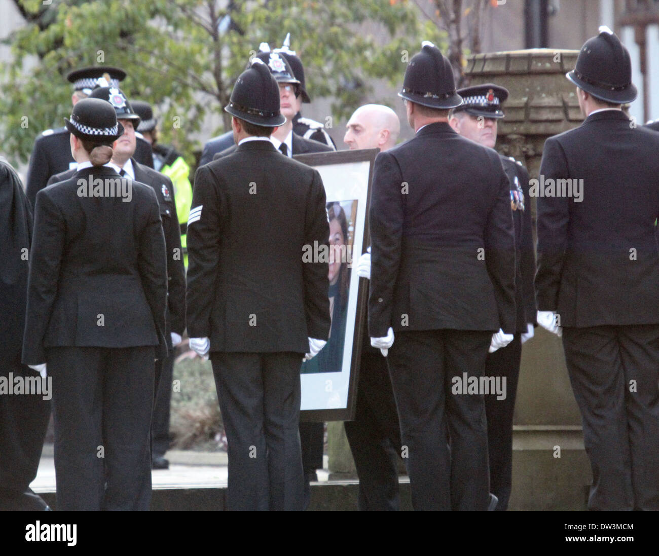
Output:
<instances>
[{"instance_id":1,"label":"officer in chequered peaked cap with medals, before the stone pillar","mask_svg":"<svg viewBox=\"0 0 659 556\"><path fill-rule=\"evenodd\" d=\"M459 89L458 94L463 98L463 103L453 109L449 119L451 127L484 147L494 148L497 121L503 118L501 103L508 97L507 89L486 83ZM490 392L485 397L485 412L488 420L490 491L499 499L496 510L503 511L508 507L513 479L513 411L522 344L533 337L537 308L533 287L536 264L529 201L529 174L513 157L500 157L510 182L510 206L515 225L517 327L515 338L507 346L498 348L496 342L490 346L485 375L505 377L505 397L498 399L495 392Z\"/></svg>"}]
</instances>

